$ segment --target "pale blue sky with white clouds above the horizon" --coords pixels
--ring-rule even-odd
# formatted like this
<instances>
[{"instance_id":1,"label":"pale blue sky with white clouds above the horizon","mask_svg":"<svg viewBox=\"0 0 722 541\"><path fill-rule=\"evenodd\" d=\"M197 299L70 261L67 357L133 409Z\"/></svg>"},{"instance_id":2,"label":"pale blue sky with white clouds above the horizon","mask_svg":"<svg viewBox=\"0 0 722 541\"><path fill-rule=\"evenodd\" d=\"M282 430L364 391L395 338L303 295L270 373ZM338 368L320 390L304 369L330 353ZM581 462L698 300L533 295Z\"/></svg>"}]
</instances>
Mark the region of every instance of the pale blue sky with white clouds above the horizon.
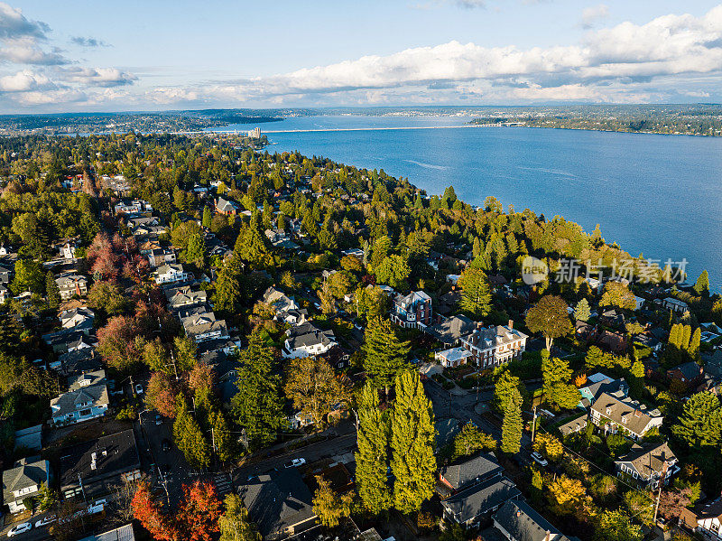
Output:
<instances>
[{"instance_id":1,"label":"pale blue sky with white clouds above the horizon","mask_svg":"<svg viewBox=\"0 0 722 541\"><path fill-rule=\"evenodd\" d=\"M0 112L722 99L722 5L0 3Z\"/></svg>"}]
</instances>

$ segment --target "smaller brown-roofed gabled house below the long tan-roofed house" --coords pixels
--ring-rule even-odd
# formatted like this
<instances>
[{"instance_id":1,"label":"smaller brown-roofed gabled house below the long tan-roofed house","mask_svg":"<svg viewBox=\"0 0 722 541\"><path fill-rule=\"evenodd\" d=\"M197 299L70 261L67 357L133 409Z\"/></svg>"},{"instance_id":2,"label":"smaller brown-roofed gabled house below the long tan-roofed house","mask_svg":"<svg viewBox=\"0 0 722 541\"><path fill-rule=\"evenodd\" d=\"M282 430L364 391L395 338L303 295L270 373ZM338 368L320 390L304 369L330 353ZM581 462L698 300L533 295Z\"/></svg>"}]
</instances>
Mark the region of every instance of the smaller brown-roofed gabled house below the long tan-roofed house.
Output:
<instances>
[{"instance_id":1,"label":"smaller brown-roofed gabled house below the long tan-roofed house","mask_svg":"<svg viewBox=\"0 0 722 541\"><path fill-rule=\"evenodd\" d=\"M634 444L630 452L615 461L616 476L633 480L643 489L667 485L671 476L680 471L677 457L664 442L653 447Z\"/></svg>"}]
</instances>

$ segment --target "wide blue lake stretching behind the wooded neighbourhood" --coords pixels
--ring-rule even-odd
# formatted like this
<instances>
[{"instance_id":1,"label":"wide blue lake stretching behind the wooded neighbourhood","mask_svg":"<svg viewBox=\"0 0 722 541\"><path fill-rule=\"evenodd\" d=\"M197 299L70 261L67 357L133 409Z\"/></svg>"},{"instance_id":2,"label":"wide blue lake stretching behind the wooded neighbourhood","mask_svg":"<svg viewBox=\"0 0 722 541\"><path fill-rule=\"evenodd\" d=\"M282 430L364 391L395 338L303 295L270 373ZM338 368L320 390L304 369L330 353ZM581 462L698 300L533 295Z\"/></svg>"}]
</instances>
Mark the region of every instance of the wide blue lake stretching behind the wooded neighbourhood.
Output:
<instances>
[{"instance_id":1,"label":"wide blue lake stretching behind the wooded neighbourhood","mask_svg":"<svg viewBox=\"0 0 722 541\"><path fill-rule=\"evenodd\" d=\"M293 117L262 124L270 152L298 150L408 177L463 201L493 195L521 211L560 214L607 242L662 261L686 258L690 281L722 284L722 138L463 126L465 117ZM249 126L228 126L247 130ZM250 126L253 127L253 126ZM342 131L357 128L375 128ZM378 129L391 128L391 129ZM291 132L279 130L327 129Z\"/></svg>"}]
</instances>

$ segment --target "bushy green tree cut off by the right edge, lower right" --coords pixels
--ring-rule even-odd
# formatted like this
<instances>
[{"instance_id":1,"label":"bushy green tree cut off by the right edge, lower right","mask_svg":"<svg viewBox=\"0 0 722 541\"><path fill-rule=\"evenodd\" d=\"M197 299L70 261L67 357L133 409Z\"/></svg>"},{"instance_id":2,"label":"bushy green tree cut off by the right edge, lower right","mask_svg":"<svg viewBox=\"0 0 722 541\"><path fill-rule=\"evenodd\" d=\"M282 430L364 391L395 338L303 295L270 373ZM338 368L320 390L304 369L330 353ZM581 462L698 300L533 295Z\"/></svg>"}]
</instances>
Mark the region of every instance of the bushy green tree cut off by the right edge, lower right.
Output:
<instances>
[{"instance_id":1,"label":"bushy green tree cut off by the right edge, lower right","mask_svg":"<svg viewBox=\"0 0 722 541\"><path fill-rule=\"evenodd\" d=\"M722 429L722 408L719 398L702 391L690 396L682 406L682 415L671 432L695 450L717 447Z\"/></svg>"}]
</instances>

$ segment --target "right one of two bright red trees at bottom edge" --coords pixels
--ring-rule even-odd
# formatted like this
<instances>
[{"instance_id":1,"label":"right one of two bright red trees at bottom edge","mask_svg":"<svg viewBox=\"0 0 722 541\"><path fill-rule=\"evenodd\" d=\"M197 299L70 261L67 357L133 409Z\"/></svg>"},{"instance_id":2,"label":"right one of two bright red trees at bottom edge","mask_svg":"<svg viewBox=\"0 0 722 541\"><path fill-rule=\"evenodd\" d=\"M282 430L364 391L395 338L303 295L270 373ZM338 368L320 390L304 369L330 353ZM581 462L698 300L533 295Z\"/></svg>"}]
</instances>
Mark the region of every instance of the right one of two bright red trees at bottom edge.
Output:
<instances>
[{"instance_id":1,"label":"right one of two bright red trees at bottom edge","mask_svg":"<svg viewBox=\"0 0 722 541\"><path fill-rule=\"evenodd\" d=\"M195 481L184 487L185 499L178 512L184 530L184 539L189 541L211 541L212 533L220 531L218 517L221 502L218 491L212 483Z\"/></svg>"}]
</instances>

